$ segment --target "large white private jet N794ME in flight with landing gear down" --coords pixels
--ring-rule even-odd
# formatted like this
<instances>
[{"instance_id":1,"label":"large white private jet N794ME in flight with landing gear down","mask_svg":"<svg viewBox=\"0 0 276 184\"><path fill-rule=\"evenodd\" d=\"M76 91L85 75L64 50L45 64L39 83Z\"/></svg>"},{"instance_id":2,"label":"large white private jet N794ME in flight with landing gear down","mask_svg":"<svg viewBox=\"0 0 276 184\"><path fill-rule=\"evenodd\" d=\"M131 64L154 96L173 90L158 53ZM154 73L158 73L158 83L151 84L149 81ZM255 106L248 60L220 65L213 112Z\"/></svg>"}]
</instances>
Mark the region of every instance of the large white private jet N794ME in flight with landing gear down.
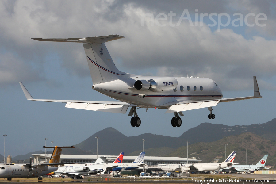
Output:
<instances>
[{"instance_id":1,"label":"large white private jet N794ME in flight with landing gear down","mask_svg":"<svg viewBox=\"0 0 276 184\"><path fill-rule=\"evenodd\" d=\"M111 59L105 42L124 38L119 35L86 37L86 38L33 38L39 41L82 43L90 69L92 89L119 101L78 101L33 99L24 85L20 85L28 100L46 102L64 102L65 107L125 114L133 127L141 125L137 109L167 109L166 113L174 113L171 119L173 127L180 127L184 116L182 111L208 108L209 119L214 119L213 106L219 102L230 102L251 98L262 98L256 77L253 77L254 96L240 98L222 98L220 87L208 78L195 77L157 77L128 74L119 71ZM120 102L121 101L121 102Z\"/></svg>"}]
</instances>

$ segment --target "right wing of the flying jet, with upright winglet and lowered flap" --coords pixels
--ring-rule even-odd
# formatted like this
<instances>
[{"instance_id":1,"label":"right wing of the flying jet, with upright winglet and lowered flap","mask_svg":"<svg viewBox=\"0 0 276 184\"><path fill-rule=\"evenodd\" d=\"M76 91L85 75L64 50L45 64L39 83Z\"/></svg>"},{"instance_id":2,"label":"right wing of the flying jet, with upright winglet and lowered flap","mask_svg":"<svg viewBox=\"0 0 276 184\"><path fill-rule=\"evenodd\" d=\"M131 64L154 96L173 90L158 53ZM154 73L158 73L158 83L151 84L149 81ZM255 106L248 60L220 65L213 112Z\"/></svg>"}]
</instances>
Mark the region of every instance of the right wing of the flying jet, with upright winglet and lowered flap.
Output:
<instances>
[{"instance_id":1,"label":"right wing of the flying jet, with upright winglet and lowered flap","mask_svg":"<svg viewBox=\"0 0 276 184\"><path fill-rule=\"evenodd\" d=\"M236 97L236 98L222 98L217 100L207 100L207 101L174 101L162 106L170 106L166 113L173 113L173 112L181 112L186 110L193 110L193 109L201 109L205 107L212 107L216 106L220 102L232 102L237 100L246 100L252 98L262 98L259 91L259 86L257 83L256 76L253 76L253 84L254 84L254 96L250 97Z\"/></svg>"}]
</instances>

